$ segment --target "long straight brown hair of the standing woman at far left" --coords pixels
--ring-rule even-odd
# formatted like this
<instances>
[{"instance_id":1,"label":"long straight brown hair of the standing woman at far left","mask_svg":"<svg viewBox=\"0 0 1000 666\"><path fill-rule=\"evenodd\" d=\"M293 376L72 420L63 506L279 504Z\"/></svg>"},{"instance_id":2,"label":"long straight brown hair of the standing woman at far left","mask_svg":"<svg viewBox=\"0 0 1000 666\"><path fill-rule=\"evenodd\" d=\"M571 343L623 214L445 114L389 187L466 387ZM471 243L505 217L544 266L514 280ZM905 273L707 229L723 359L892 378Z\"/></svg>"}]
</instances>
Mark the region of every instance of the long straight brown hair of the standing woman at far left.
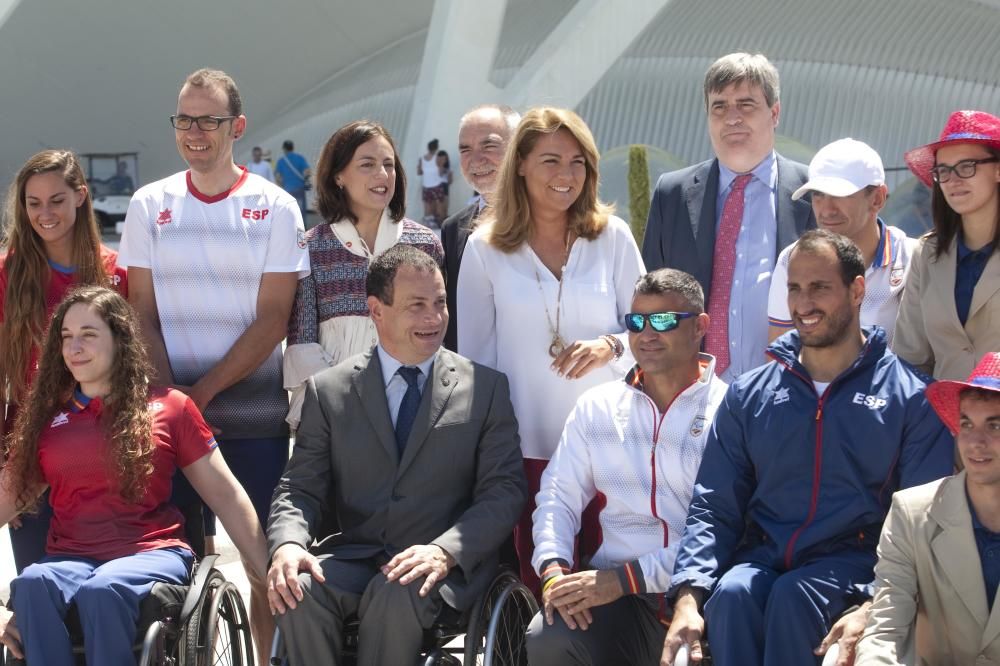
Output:
<instances>
[{"instance_id":1,"label":"long straight brown hair of the standing woman at far left","mask_svg":"<svg viewBox=\"0 0 1000 666\"><path fill-rule=\"evenodd\" d=\"M86 190L80 162L68 150L43 150L32 156L11 184L7 195L7 293L4 295L3 336L0 339L0 391L7 402L20 402L27 390L28 359L42 342L46 324L45 292L52 269L45 245L31 228L25 188L32 176L55 172L75 192ZM101 234L89 190L76 209L73 224L73 266L80 284L106 284L101 259Z\"/></svg>"}]
</instances>

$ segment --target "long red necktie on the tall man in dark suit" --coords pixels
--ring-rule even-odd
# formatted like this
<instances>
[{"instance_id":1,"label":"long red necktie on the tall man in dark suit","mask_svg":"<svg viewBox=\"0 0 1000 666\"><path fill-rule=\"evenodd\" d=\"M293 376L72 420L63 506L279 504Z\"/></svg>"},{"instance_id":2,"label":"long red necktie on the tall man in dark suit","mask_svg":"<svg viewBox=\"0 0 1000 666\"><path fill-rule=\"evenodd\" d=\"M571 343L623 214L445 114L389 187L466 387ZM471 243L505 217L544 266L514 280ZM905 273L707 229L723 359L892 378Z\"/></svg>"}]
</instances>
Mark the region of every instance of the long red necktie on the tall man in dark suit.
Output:
<instances>
[{"instance_id":1,"label":"long red necktie on the tall man in dark suit","mask_svg":"<svg viewBox=\"0 0 1000 666\"><path fill-rule=\"evenodd\" d=\"M729 296L736 272L736 239L743 223L743 192L752 174L736 176L722 206L722 219L715 236L712 258L712 288L708 295L708 334L705 351L715 357L715 374L722 375L729 367Z\"/></svg>"}]
</instances>

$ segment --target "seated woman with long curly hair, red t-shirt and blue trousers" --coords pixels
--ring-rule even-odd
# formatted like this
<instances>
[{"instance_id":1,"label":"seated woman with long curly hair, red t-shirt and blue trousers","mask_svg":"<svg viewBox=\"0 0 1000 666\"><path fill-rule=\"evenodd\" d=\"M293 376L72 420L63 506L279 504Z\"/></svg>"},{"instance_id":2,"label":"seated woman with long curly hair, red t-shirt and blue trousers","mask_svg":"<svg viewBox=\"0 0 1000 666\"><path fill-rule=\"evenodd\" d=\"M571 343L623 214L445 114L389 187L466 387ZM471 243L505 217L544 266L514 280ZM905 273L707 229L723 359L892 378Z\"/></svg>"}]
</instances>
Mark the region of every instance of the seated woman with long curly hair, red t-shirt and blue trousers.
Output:
<instances>
[{"instance_id":1,"label":"seated woman with long curly hair, red t-shirt and blue trousers","mask_svg":"<svg viewBox=\"0 0 1000 666\"><path fill-rule=\"evenodd\" d=\"M38 377L8 440L0 525L51 489L47 556L11 583L28 663L71 666L60 631L74 603L88 664L132 663L139 602L156 582L187 580L192 553L170 503L180 468L252 570L267 566L253 505L183 393L151 388L128 302L82 287L56 309Z\"/></svg>"}]
</instances>

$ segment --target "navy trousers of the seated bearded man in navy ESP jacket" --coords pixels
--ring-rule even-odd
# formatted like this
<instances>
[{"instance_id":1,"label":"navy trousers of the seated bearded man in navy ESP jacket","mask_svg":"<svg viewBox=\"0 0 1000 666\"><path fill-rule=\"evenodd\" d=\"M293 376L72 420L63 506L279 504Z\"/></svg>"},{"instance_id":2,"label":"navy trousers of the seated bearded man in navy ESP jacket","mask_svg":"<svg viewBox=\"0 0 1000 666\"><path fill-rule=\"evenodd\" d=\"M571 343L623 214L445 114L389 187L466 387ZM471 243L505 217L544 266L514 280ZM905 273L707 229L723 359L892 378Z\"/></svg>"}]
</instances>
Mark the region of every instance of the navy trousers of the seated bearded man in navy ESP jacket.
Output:
<instances>
[{"instance_id":1,"label":"navy trousers of the seated bearded man in navy ESP jacket","mask_svg":"<svg viewBox=\"0 0 1000 666\"><path fill-rule=\"evenodd\" d=\"M874 555L845 553L786 572L743 562L723 574L705 603L715 666L821 664L813 654L874 577Z\"/></svg>"}]
</instances>

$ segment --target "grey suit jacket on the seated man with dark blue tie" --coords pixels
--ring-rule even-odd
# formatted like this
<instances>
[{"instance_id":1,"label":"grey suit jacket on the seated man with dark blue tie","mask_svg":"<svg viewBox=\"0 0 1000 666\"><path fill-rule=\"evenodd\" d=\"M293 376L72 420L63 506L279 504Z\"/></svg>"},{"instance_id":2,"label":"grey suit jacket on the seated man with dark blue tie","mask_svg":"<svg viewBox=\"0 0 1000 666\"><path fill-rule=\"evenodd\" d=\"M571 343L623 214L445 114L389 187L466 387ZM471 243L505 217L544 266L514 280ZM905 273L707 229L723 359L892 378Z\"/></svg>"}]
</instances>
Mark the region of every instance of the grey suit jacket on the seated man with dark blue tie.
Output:
<instances>
[{"instance_id":1,"label":"grey suit jacket on the seated man with dark blue tie","mask_svg":"<svg viewBox=\"0 0 1000 666\"><path fill-rule=\"evenodd\" d=\"M295 449L271 504L268 549L273 556L296 543L368 559L433 543L455 558L440 589L461 610L496 573L526 494L505 375L440 350L400 459L372 350L308 380ZM320 533L329 524L339 531Z\"/></svg>"}]
</instances>

